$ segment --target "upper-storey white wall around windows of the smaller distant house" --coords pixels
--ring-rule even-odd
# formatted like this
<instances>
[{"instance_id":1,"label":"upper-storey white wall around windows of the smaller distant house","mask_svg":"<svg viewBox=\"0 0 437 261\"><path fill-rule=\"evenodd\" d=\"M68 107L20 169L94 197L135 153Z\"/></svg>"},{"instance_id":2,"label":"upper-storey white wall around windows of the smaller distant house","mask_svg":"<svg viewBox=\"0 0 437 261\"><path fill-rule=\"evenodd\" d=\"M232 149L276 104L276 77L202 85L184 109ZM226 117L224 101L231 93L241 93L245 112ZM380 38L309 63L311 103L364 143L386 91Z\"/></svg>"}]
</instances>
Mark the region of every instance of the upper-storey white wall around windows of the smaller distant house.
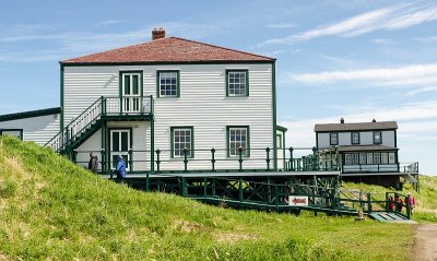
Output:
<instances>
[{"instance_id":1,"label":"upper-storey white wall around windows of the smaller distant house","mask_svg":"<svg viewBox=\"0 0 437 261\"><path fill-rule=\"evenodd\" d=\"M332 132L335 133L335 132ZM351 141L351 132L338 132L339 133L339 145L353 145ZM326 149L330 147L330 133L317 133L318 135L318 147ZM381 131L382 144L388 147L394 146L394 131ZM356 145L371 145L374 144L374 132L373 131L362 131L359 132L359 144ZM354 144L355 145L355 144Z\"/></svg>"}]
</instances>

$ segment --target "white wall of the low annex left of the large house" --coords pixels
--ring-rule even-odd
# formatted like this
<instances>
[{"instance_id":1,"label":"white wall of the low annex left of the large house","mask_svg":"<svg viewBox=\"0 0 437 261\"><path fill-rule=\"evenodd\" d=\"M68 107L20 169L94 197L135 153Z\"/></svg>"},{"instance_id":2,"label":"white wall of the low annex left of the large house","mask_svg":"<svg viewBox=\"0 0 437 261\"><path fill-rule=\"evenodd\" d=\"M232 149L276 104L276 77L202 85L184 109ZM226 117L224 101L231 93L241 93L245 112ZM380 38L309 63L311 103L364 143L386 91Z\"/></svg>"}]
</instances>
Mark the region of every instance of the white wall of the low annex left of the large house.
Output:
<instances>
[{"instance_id":1,"label":"white wall of the low annex left of the large house","mask_svg":"<svg viewBox=\"0 0 437 261\"><path fill-rule=\"evenodd\" d=\"M23 129L23 140L46 144L59 132L59 114L0 122L0 129Z\"/></svg>"}]
</instances>

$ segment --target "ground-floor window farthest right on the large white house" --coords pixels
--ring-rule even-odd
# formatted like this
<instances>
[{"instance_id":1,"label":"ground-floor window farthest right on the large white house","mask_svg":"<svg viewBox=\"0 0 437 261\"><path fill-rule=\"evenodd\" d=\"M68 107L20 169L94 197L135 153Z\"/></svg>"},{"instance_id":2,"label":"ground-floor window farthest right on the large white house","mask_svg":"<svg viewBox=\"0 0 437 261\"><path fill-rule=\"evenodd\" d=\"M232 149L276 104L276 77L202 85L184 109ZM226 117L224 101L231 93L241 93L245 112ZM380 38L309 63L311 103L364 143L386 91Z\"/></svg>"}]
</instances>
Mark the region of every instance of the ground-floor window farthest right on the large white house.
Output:
<instances>
[{"instance_id":1,"label":"ground-floor window farthest right on the large white house","mask_svg":"<svg viewBox=\"0 0 437 261\"><path fill-rule=\"evenodd\" d=\"M238 156L241 147L241 155L250 156L249 150L249 127L248 126L228 126L227 127L227 155Z\"/></svg>"}]
</instances>

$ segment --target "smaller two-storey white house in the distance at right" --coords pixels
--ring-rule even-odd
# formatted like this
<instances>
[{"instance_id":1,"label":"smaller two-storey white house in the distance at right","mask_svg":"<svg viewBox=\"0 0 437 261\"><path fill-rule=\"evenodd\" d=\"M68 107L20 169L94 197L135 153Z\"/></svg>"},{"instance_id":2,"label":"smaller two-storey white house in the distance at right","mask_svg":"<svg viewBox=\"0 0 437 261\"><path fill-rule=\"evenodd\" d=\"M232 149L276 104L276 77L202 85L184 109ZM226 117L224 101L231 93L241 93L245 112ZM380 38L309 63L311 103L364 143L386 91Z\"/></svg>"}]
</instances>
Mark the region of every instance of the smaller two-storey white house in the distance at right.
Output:
<instances>
[{"instance_id":1,"label":"smaller two-storey white house in the distance at right","mask_svg":"<svg viewBox=\"0 0 437 261\"><path fill-rule=\"evenodd\" d=\"M316 147L331 153L335 149L343 178L392 176L399 179L400 165L395 121L316 124ZM326 158L326 161L323 161ZM330 164L330 156L321 165ZM390 179L385 177L385 179Z\"/></svg>"}]
</instances>

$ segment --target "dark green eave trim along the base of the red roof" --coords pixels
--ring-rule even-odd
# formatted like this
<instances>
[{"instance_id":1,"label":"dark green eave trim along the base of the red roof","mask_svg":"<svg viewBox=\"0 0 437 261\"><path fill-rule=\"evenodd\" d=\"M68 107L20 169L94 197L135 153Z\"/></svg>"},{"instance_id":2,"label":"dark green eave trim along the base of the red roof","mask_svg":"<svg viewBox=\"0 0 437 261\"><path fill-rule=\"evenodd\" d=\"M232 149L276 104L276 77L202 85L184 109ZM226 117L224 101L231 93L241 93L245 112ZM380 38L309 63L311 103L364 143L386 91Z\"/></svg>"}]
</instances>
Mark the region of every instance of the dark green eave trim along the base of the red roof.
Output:
<instances>
[{"instance_id":1,"label":"dark green eave trim along the base of the red roof","mask_svg":"<svg viewBox=\"0 0 437 261\"><path fill-rule=\"evenodd\" d=\"M62 62L59 63L63 67L95 67L95 66L105 66L105 67L116 67L116 66L175 66L175 64L252 64L252 63L264 63L271 64L274 63L276 59L272 59L271 61L257 61L257 60L243 60L243 61L226 61L226 60L218 60L218 61L155 61L155 62L86 62L86 63L79 63L79 62Z\"/></svg>"}]
</instances>

